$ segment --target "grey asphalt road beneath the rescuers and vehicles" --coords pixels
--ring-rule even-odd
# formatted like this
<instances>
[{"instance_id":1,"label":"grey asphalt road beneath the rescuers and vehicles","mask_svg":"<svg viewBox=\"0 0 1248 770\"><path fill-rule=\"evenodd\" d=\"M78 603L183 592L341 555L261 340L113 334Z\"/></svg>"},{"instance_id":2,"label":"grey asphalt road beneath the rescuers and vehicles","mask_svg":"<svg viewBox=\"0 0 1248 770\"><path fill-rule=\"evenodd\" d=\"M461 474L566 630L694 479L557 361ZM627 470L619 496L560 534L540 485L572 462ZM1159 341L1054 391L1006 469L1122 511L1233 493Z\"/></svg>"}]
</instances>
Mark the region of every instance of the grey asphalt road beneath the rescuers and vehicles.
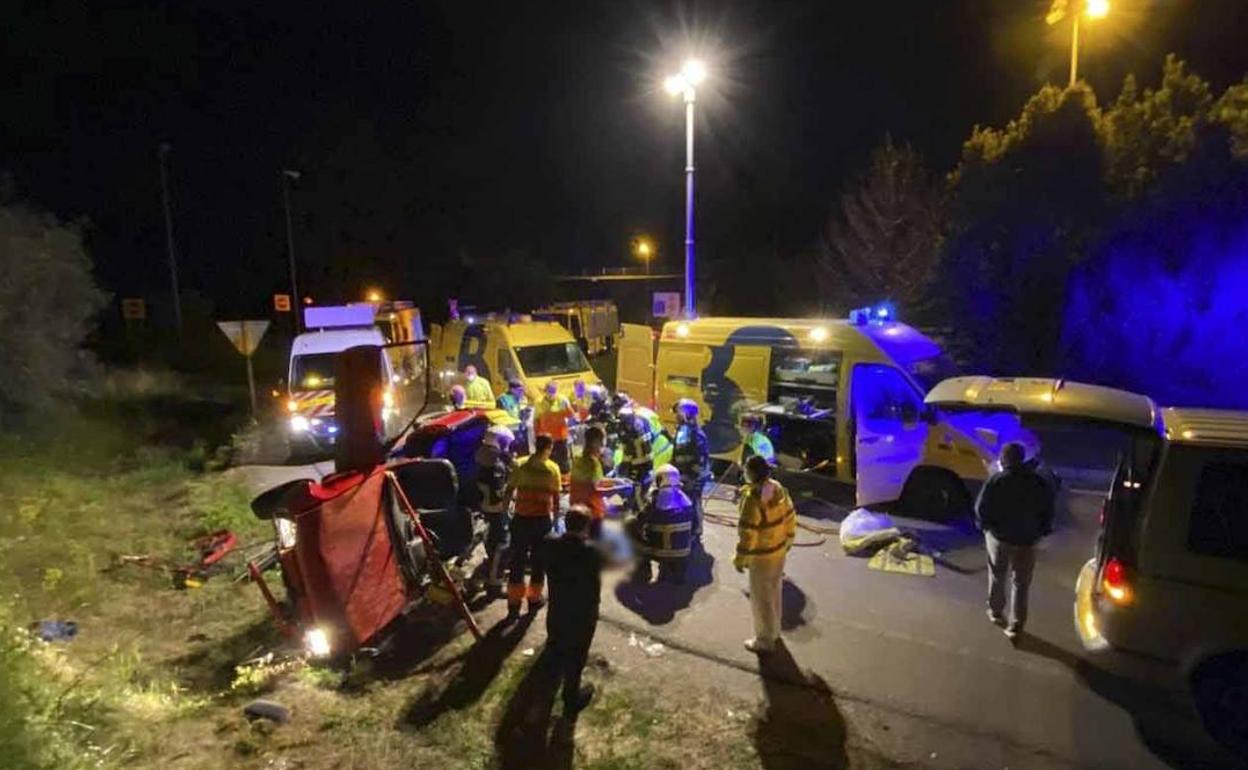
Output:
<instances>
[{"instance_id":1,"label":"grey asphalt road beneath the rescuers and vehicles","mask_svg":"<svg viewBox=\"0 0 1248 770\"><path fill-rule=\"evenodd\" d=\"M319 477L329 463L241 468L257 487ZM1058 530L1041 545L1028 635L1015 648L985 616L986 575L970 529L900 522L940 543L958 569L909 577L867 569L835 535L799 530L784 587L786 644L796 661L839 698L931 725L929 735L973 736L997 746L961 766L1227 766L1214 761L1181 698L1090 666L1071 620L1075 578L1092 552L1099 494L1061 495ZM801 520L834 523L846 508L800 503ZM735 515L726 499L710 513ZM604 585L603 618L671 646L738 666L756 666L741 643L751 635L746 580L731 565L735 530L708 524L705 554L684 588ZM932 755L935 756L935 754ZM982 759L982 764L978 761ZM1015 764L1010 765L1010 760Z\"/></svg>"}]
</instances>

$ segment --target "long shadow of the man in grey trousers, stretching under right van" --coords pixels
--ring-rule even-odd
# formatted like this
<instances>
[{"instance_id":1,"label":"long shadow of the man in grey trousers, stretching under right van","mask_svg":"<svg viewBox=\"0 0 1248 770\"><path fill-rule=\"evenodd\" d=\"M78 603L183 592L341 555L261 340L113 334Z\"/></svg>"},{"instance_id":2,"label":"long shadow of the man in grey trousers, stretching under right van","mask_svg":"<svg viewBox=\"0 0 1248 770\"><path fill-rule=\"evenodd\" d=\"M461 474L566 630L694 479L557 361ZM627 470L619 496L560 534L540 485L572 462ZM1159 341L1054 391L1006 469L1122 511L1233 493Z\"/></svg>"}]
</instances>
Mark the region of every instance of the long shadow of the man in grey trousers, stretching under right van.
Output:
<instances>
[{"instance_id":1,"label":"long shadow of the man in grey trousers, stretching under right van","mask_svg":"<svg viewBox=\"0 0 1248 770\"><path fill-rule=\"evenodd\" d=\"M1166 764L1226 770L1244 766L1244 760L1231 756L1206 735L1199 718L1179 694L1107 671L1031 634L1020 636L1017 648L1071 669L1088 689L1129 714L1141 741ZM1094 724L1083 726L1087 741L1099 740Z\"/></svg>"}]
</instances>

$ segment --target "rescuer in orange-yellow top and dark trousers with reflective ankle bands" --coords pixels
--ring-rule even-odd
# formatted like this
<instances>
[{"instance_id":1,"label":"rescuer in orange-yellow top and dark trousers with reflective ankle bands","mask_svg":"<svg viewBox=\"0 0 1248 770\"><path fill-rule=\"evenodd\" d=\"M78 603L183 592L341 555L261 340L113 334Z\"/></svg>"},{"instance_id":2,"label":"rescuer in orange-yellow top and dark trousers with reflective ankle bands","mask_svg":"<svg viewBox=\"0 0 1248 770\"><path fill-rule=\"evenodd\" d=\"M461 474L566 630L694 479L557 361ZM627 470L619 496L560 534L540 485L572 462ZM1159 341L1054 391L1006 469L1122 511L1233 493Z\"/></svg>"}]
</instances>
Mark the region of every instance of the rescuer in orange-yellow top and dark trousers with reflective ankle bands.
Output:
<instances>
[{"instance_id":1,"label":"rescuer in orange-yellow top and dark trousers with reflective ankle bands","mask_svg":"<svg viewBox=\"0 0 1248 770\"><path fill-rule=\"evenodd\" d=\"M529 612L542 607L545 585L545 559L542 542L550 533L559 512L559 467L550 462L554 439L539 436L534 452L512 472L507 492L515 494L515 514L510 529L510 579L507 584L507 616L520 614L520 603L528 602ZM524 573L529 573L528 588Z\"/></svg>"}]
</instances>

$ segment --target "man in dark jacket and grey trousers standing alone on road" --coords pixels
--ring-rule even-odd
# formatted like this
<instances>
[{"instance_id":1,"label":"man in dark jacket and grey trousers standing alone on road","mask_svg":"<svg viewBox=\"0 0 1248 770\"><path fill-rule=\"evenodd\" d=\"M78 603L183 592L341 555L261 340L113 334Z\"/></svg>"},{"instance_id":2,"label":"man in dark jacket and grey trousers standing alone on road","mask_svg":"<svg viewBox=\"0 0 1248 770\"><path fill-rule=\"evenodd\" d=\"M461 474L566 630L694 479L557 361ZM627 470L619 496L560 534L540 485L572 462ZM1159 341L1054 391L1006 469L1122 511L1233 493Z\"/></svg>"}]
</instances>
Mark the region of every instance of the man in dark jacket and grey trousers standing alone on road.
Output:
<instances>
[{"instance_id":1,"label":"man in dark jacket and grey trousers standing alone on road","mask_svg":"<svg viewBox=\"0 0 1248 770\"><path fill-rule=\"evenodd\" d=\"M975 522L988 552L988 619L1015 640L1027 623L1027 589L1036 567L1036 543L1053 529L1053 490L1025 462L1020 443L1001 448L1001 470L980 489ZM1010 614L1006 579L1010 579Z\"/></svg>"}]
</instances>

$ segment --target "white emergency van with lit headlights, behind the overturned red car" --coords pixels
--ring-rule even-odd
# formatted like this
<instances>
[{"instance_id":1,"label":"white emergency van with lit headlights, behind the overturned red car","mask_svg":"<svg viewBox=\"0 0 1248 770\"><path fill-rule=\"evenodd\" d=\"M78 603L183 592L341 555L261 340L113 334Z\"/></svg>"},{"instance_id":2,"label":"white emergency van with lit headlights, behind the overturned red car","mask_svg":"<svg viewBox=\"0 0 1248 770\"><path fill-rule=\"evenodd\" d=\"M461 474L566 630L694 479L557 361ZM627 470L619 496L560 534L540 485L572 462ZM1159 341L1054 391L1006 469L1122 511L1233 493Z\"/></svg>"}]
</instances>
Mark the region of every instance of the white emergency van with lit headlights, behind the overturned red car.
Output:
<instances>
[{"instance_id":1,"label":"white emergency van with lit headlights, behind the overturned red car","mask_svg":"<svg viewBox=\"0 0 1248 770\"><path fill-rule=\"evenodd\" d=\"M310 331L291 343L286 381L287 436L293 452L324 451L333 446L338 434L333 408L334 357L347 348L388 342L377 324L378 308L379 303L306 308L305 326ZM421 333L418 312L414 323L408 333ZM419 373L386 348L378 353L377 364L388 383L382 394L382 417L389 427L398 418L401 386L417 379Z\"/></svg>"}]
</instances>

